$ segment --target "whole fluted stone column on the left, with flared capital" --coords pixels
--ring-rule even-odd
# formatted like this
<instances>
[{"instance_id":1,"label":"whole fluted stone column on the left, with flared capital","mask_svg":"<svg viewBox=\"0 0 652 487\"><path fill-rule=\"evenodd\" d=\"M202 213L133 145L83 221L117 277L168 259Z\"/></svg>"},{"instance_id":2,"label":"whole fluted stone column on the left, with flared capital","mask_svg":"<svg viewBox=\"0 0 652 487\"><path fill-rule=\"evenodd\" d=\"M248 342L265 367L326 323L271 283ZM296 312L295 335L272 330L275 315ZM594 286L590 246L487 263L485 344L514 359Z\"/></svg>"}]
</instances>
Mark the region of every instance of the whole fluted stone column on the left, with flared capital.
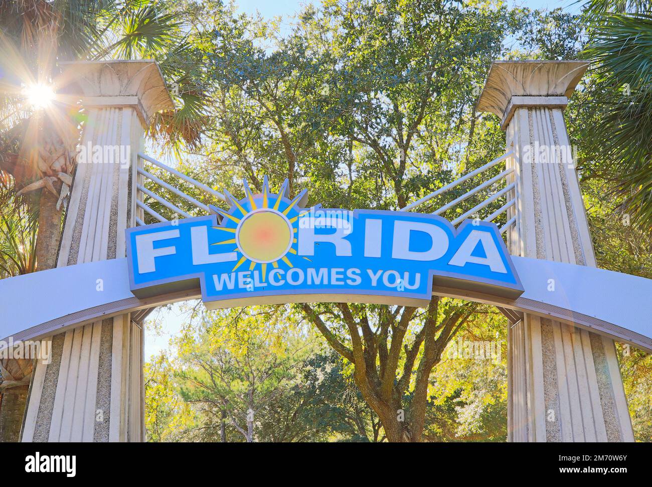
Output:
<instances>
[{"instance_id":1,"label":"whole fluted stone column on the left, with flared capital","mask_svg":"<svg viewBox=\"0 0 652 487\"><path fill-rule=\"evenodd\" d=\"M84 110L59 267L125 257L143 130L173 108L154 61L66 67ZM52 362L35 367L22 441L143 441L143 409L143 331L129 314L96 321L52 337Z\"/></svg>"}]
</instances>

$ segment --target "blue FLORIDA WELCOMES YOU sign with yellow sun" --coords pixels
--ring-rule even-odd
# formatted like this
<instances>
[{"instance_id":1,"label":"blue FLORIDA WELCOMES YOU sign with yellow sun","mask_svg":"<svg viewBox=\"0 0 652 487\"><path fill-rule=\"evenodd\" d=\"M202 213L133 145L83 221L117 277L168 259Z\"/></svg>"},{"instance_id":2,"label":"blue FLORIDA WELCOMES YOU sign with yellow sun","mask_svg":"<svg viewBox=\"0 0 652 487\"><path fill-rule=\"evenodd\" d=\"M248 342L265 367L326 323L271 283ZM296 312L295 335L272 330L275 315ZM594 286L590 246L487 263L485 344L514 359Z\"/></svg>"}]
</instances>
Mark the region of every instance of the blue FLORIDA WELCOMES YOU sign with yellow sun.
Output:
<instances>
[{"instance_id":1,"label":"blue FLORIDA WELCOMES YOU sign with yellow sun","mask_svg":"<svg viewBox=\"0 0 652 487\"><path fill-rule=\"evenodd\" d=\"M495 224L455 229L432 214L304 209L288 184L228 212L126 230L130 288L138 297L201 288L209 308L359 302L424 306L433 282L515 298L520 280Z\"/></svg>"}]
</instances>

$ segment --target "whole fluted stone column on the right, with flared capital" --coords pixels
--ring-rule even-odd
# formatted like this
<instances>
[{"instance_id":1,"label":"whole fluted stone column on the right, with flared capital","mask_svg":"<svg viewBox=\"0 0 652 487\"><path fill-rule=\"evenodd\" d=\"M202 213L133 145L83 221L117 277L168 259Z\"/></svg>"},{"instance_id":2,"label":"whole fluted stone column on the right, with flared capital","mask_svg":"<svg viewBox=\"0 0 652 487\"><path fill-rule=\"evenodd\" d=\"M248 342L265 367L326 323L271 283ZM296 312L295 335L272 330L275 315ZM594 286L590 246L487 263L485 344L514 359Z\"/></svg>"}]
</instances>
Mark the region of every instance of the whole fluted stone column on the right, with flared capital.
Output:
<instances>
[{"instance_id":1,"label":"whole fluted stone column on the right, with flared capital","mask_svg":"<svg viewBox=\"0 0 652 487\"><path fill-rule=\"evenodd\" d=\"M502 118L514 151L514 255L596 265L563 118L587 65L496 61L484 85L477 110ZM528 314L508 337L509 441L634 441L613 340Z\"/></svg>"}]
</instances>

